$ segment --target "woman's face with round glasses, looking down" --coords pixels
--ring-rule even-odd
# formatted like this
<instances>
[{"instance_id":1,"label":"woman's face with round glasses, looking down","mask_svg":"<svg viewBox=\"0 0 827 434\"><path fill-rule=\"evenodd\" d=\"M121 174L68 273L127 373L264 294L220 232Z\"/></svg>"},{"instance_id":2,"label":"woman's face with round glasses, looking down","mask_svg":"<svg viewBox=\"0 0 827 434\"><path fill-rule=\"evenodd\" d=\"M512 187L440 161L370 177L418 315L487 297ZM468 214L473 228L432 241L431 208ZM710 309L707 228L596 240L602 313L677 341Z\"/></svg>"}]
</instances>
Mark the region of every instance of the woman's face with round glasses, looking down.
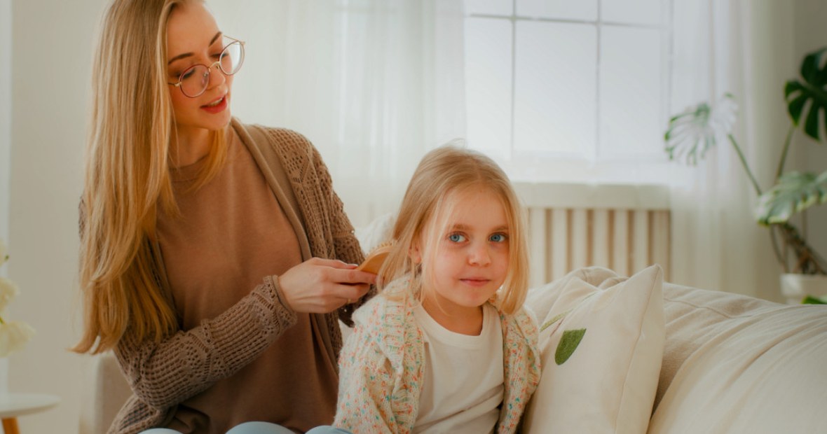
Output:
<instances>
[{"instance_id":1,"label":"woman's face with round glasses, looking down","mask_svg":"<svg viewBox=\"0 0 827 434\"><path fill-rule=\"evenodd\" d=\"M222 49L222 33L213 15L200 2L185 2L170 14L167 23L167 82L178 83L181 73L194 64L211 65ZM230 122L232 75L218 67L210 69L206 90L189 98L174 85L169 86L175 122L179 133L206 129L219 130Z\"/></svg>"}]
</instances>

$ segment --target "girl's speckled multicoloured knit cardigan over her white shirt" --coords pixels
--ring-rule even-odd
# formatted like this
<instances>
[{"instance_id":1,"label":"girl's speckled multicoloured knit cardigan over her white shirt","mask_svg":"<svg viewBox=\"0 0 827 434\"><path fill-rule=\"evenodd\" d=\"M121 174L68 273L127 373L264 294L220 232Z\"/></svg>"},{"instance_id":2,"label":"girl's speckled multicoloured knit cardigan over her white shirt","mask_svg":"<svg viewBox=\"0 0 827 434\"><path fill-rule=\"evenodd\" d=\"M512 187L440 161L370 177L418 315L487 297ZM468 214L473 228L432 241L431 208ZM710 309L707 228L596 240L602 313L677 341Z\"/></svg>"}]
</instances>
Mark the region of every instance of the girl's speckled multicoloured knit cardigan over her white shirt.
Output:
<instances>
[{"instance_id":1,"label":"girl's speckled multicoloured knit cardigan over her white shirt","mask_svg":"<svg viewBox=\"0 0 827 434\"><path fill-rule=\"evenodd\" d=\"M418 303L408 282L394 281L385 293L356 312L356 327L339 358L339 399L334 426L352 432L407 433L418 415L425 363L423 331L414 320ZM389 295L390 294L390 295ZM494 303L495 308L498 303ZM520 308L500 312L503 330L504 396L497 432L516 432L528 398L540 379L537 324Z\"/></svg>"}]
</instances>

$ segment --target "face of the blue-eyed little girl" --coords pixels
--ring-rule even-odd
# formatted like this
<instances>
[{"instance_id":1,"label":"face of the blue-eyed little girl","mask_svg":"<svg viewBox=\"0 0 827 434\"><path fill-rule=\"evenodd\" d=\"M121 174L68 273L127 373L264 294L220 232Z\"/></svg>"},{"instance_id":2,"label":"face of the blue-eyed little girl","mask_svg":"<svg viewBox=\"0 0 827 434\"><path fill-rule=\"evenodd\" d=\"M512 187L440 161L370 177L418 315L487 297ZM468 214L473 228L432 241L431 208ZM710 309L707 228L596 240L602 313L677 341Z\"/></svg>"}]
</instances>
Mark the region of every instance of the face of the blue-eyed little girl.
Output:
<instances>
[{"instance_id":1,"label":"face of the blue-eyed little girl","mask_svg":"<svg viewBox=\"0 0 827 434\"><path fill-rule=\"evenodd\" d=\"M427 310L436 302L433 306L449 315L476 315L508 274L508 220L500 198L488 188L449 194L451 215L436 216L447 222L446 231L435 249L414 247L412 259L431 268L431 281L423 282Z\"/></svg>"}]
</instances>

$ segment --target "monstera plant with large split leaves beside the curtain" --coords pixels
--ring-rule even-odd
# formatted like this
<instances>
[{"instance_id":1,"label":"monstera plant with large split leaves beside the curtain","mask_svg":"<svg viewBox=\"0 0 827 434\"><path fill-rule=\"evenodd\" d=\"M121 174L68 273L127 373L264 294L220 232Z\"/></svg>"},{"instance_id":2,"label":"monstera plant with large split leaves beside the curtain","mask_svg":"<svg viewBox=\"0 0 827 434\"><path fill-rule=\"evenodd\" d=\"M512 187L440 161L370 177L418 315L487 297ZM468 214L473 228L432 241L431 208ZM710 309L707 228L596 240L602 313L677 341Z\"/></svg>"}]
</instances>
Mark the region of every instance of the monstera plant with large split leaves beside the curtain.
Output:
<instances>
[{"instance_id":1,"label":"monstera plant with large split leaves beside the curtain","mask_svg":"<svg viewBox=\"0 0 827 434\"><path fill-rule=\"evenodd\" d=\"M802 236L806 233L806 210L827 203L827 170L822 173L785 170L794 132L801 129L820 146L827 141L823 129L827 125L825 52L827 47L805 55L801 63L801 77L787 81L784 86L790 126L771 188L764 190L760 187L743 149L732 134L737 105L730 94L715 103L700 103L672 117L664 135L670 159L683 158L690 165L696 165L698 159L704 158L706 151L718 142L729 141L758 195L756 221L770 229L775 255L785 273L827 274L824 256L813 250ZM824 150L827 152L827 149ZM791 222L791 217L796 214L801 214L799 221L804 231ZM815 224L827 225L827 222Z\"/></svg>"}]
</instances>

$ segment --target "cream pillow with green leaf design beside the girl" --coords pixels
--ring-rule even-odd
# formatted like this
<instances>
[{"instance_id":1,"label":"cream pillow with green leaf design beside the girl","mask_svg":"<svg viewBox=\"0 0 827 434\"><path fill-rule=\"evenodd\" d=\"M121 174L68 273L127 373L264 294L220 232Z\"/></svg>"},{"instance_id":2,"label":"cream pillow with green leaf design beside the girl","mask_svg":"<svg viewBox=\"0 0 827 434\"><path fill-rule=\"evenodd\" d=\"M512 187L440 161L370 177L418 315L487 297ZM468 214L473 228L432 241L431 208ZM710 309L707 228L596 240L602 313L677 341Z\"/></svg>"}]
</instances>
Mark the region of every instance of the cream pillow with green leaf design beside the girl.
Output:
<instances>
[{"instance_id":1,"label":"cream pillow with green leaf design beside the girl","mask_svg":"<svg viewBox=\"0 0 827 434\"><path fill-rule=\"evenodd\" d=\"M646 432L663 355L662 283L657 265L629 279L590 267L529 293L543 376L525 432Z\"/></svg>"}]
</instances>

